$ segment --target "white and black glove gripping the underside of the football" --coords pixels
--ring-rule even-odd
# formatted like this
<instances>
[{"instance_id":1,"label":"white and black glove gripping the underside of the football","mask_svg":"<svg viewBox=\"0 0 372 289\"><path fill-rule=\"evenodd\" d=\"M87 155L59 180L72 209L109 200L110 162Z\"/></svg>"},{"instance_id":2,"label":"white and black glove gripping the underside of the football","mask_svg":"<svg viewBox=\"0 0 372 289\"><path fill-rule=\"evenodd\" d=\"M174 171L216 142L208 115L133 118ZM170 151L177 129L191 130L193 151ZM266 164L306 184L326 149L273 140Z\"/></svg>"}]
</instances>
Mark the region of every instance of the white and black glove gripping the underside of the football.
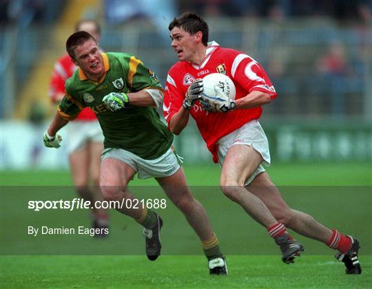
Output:
<instances>
[{"instance_id":1,"label":"white and black glove gripping the underside of the football","mask_svg":"<svg viewBox=\"0 0 372 289\"><path fill-rule=\"evenodd\" d=\"M235 101L228 98L218 85L214 87L214 91L216 96L202 94L199 99L199 103L205 111L227 112L235 108Z\"/></svg>"}]
</instances>

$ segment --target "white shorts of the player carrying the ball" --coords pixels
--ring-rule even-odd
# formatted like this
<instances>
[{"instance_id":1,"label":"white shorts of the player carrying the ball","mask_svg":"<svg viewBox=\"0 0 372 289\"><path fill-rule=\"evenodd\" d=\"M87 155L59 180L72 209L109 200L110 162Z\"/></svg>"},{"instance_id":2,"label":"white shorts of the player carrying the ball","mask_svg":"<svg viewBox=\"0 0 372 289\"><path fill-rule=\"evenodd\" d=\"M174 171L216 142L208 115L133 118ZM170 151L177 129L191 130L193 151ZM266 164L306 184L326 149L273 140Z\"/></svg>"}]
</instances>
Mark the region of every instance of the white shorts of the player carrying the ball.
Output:
<instances>
[{"instance_id":1,"label":"white shorts of the player carrying the ball","mask_svg":"<svg viewBox=\"0 0 372 289\"><path fill-rule=\"evenodd\" d=\"M269 142L267 141L267 137L260 122L257 120L247 122L242 127L218 140L218 160L221 167L223 166L227 152L235 144L246 144L252 146L261 154L265 164L267 166L270 165ZM262 171L265 171L265 169L262 167L262 164L260 164L256 171L254 171L253 175L251 175L251 177L245 182L245 185L247 186L247 184L250 184L251 181L256 178L256 175L262 173Z\"/></svg>"}]
</instances>

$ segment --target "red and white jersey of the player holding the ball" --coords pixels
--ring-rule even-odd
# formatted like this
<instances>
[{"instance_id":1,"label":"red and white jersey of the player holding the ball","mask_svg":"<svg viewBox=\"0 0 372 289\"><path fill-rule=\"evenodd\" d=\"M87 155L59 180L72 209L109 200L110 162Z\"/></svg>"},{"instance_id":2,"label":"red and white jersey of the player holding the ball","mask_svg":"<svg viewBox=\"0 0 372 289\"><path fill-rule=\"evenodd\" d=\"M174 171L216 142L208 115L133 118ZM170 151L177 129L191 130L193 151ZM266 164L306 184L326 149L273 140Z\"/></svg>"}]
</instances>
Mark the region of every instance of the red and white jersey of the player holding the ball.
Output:
<instances>
[{"instance_id":1,"label":"red and white jersey of the player holding the ball","mask_svg":"<svg viewBox=\"0 0 372 289\"><path fill-rule=\"evenodd\" d=\"M203 78L216 72L226 74L234 81L236 99L253 91L266 92L271 98L276 98L276 91L269 77L257 61L243 52L220 47L218 43L212 41L208 43L206 56L199 66L188 61L179 61L169 69L163 105L164 117L168 125L172 116L182 106L189 85L196 78ZM262 108L211 114L204 111L196 101L190 114L196 120L207 148L214 156L214 162L218 162L216 142L245 123L260 118Z\"/></svg>"}]
</instances>

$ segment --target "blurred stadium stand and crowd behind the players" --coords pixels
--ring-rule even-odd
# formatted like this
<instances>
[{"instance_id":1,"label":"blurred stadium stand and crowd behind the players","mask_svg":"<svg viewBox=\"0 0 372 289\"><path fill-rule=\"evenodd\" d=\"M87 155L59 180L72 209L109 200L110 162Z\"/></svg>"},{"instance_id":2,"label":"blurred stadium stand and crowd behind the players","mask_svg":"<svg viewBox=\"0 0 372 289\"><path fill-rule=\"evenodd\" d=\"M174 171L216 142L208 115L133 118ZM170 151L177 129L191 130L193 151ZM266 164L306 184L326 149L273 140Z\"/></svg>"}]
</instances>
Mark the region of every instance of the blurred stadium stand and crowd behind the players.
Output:
<instances>
[{"instance_id":1,"label":"blurred stadium stand and crowd behind the players","mask_svg":"<svg viewBox=\"0 0 372 289\"><path fill-rule=\"evenodd\" d=\"M103 50L138 56L164 85L177 61L167 27L185 11L205 17L210 41L265 68L278 92L265 120L371 130L372 0L1 0L0 120L50 118L54 61L79 18L101 23Z\"/></svg>"}]
</instances>

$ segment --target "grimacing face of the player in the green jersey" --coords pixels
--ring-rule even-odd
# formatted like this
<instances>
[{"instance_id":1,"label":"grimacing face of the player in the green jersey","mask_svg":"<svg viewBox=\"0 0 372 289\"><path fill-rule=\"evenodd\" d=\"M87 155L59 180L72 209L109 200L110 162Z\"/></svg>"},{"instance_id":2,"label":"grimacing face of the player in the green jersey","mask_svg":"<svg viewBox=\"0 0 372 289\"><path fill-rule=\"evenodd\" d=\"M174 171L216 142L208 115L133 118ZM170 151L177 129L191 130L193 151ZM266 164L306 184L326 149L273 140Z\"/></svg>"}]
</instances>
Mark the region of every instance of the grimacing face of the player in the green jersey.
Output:
<instances>
[{"instance_id":1,"label":"grimacing face of the player in the green jersey","mask_svg":"<svg viewBox=\"0 0 372 289\"><path fill-rule=\"evenodd\" d=\"M103 60L99 53L99 46L92 40L85 41L74 50L75 65L83 69L83 72L92 81L98 81L103 76Z\"/></svg>"}]
</instances>

